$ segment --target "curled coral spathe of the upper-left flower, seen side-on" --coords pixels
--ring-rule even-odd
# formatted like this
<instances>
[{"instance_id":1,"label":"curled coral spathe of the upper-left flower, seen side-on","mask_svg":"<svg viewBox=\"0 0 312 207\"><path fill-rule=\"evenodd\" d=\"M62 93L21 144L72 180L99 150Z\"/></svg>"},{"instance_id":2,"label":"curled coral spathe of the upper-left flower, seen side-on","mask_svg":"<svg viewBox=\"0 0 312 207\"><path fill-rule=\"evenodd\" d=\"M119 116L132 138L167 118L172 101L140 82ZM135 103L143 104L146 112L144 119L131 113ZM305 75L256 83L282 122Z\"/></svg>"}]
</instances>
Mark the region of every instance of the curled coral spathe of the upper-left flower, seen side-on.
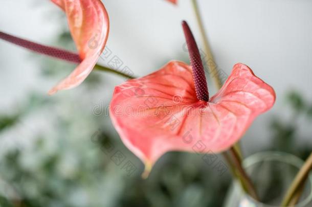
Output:
<instances>
[{"instance_id":1,"label":"curled coral spathe of the upper-left flower, seen side-on","mask_svg":"<svg viewBox=\"0 0 312 207\"><path fill-rule=\"evenodd\" d=\"M79 85L92 71L104 50L109 31L106 9L100 0L52 0L66 14L81 63L49 94Z\"/></svg>"}]
</instances>

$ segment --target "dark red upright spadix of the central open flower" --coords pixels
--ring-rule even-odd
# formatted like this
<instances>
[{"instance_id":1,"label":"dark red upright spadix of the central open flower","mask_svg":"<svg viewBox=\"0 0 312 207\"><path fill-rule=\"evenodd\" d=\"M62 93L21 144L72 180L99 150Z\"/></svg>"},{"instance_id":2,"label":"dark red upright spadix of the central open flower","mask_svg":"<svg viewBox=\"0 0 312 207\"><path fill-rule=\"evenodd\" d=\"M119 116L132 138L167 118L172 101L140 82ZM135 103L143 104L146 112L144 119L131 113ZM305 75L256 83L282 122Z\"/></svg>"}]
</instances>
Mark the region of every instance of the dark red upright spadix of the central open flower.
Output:
<instances>
[{"instance_id":1,"label":"dark red upright spadix of the central open flower","mask_svg":"<svg viewBox=\"0 0 312 207\"><path fill-rule=\"evenodd\" d=\"M186 21L182 21L182 27L187 43L187 48L189 51L196 97L198 100L208 101L209 93L204 71L204 65L202 59L200 58L200 53L196 41Z\"/></svg>"}]
</instances>

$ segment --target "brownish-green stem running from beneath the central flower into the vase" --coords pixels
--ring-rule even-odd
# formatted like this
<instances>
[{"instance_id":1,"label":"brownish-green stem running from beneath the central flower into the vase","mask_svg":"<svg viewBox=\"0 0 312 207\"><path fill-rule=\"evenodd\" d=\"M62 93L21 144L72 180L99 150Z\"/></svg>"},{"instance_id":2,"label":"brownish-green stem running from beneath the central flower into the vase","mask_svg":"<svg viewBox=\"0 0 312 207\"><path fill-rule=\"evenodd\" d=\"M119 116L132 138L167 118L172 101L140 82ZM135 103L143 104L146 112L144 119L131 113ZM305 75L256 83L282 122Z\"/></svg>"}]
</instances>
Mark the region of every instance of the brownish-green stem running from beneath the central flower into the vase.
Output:
<instances>
[{"instance_id":1,"label":"brownish-green stem running from beneath the central flower into the vase","mask_svg":"<svg viewBox=\"0 0 312 207\"><path fill-rule=\"evenodd\" d=\"M247 175L246 171L244 171L244 169L241 166L241 163L239 162L239 155L233 149L233 147L229 149L229 152L232 155L233 164L236 167L236 170L238 172L238 178L242 182L243 187L247 189L247 192L251 197L253 197L255 200L259 200L251 179Z\"/></svg>"}]
</instances>

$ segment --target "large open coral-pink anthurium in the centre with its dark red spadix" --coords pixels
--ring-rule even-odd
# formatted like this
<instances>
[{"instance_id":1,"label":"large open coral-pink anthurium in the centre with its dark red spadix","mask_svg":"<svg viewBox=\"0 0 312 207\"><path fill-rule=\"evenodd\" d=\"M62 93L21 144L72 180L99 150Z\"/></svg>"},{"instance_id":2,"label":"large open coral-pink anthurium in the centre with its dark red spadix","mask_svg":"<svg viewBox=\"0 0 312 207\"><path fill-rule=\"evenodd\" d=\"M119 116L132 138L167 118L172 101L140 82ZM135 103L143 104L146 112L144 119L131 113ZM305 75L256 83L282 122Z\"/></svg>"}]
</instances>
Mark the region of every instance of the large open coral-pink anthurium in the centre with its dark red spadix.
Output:
<instances>
[{"instance_id":1,"label":"large open coral-pink anthurium in the centre with its dark red spadix","mask_svg":"<svg viewBox=\"0 0 312 207\"><path fill-rule=\"evenodd\" d=\"M116 130L146 170L168 151L227 150L275 102L273 88L241 63L209 98L196 42L186 22L183 28L191 66L171 61L157 72L128 80L116 86L110 103Z\"/></svg>"}]
</instances>

